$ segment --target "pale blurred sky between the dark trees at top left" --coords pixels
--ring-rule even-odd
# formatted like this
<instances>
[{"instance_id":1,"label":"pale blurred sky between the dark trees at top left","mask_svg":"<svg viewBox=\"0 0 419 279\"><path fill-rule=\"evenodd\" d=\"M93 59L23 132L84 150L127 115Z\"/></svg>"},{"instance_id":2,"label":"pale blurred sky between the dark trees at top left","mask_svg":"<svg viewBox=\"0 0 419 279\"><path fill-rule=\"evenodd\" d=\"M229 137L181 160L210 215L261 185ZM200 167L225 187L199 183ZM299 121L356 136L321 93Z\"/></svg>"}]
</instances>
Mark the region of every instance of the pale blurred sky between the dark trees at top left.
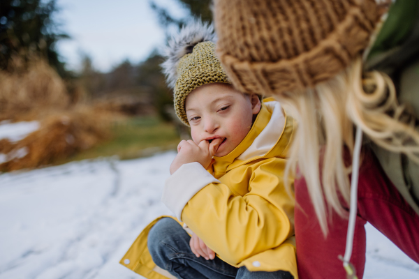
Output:
<instances>
[{"instance_id":1,"label":"pale blurred sky between the dark trees at top left","mask_svg":"<svg viewBox=\"0 0 419 279\"><path fill-rule=\"evenodd\" d=\"M176 0L156 3L175 17L186 15ZM107 72L124 59L143 61L165 45L165 33L149 0L57 0L57 6L61 8L57 21L71 36L57 47L71 70L80 69L83 54L91 56L97 70Z\"/></svg>"}]
</instances>

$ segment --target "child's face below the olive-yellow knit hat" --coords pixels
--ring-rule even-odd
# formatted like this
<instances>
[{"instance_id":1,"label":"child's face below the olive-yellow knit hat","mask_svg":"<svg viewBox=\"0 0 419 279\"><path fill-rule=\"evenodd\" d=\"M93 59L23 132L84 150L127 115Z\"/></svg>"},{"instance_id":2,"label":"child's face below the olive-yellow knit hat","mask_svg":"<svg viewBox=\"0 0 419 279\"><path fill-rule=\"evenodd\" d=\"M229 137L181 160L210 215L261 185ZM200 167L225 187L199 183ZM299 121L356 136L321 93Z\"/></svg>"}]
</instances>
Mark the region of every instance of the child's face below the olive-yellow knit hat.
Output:
<instances>
[{"instance_id":1,"label":"child's face below the olive-yellow knit hat","mask_svg":"<svg viewBox=\"0 0 419 279\"><path fill-rule=\"evenodd\" d=\"M242 142L260 110L256 94L245 95L222 83L205 84L189 93L185 102L193 142L223 139L215 156L226 156Z\"/></svg>"}]
</instances>

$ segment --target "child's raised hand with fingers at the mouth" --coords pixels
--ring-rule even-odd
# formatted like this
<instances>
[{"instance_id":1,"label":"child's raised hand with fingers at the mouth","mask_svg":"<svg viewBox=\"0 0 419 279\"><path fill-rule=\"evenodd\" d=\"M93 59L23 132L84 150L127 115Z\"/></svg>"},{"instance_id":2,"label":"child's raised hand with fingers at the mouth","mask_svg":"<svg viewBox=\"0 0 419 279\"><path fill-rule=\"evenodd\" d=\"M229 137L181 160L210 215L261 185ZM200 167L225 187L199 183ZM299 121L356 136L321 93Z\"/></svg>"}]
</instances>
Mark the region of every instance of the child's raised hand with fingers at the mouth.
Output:
<instances>
[{"instance_id":1,"label":"child's raised hand with fingers at the mouth","mask_svg":"<svg viewBox=\"0 0 419 279\"><path fill-rule=\"evenodd\" d=\"M198 162L207 169L221 142L223 142L223 139L217 138L212 140L211 143L203 140L197 145L193 140L182 140L177 146L177 156L170 165L170 174L176 172L183 164L193 162Z\"/></svg>"}]
</instances>

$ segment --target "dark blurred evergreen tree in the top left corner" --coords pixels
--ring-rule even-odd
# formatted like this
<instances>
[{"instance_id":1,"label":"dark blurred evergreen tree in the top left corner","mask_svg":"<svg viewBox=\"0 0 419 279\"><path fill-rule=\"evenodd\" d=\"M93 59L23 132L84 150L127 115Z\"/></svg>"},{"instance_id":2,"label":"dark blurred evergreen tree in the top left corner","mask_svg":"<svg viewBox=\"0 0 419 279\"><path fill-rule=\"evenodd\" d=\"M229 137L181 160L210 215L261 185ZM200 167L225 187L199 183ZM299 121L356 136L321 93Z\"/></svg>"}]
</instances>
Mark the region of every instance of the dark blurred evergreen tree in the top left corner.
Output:
<instances>
[{"instance_id":1,"label":"dark blurred evergreen tree in the top left corner","mask_svg":"<svg viewBox=\"0 0 419 279\"><path fill-rule=\"evenodd\" d=\"M30 56L45 56L61 77L68 76L56 50L58 40L68 38L59 30L53 15L56 0L0 1L0 68L7 69L17 55L27 61Z\"/></svg>"}]
</instances>

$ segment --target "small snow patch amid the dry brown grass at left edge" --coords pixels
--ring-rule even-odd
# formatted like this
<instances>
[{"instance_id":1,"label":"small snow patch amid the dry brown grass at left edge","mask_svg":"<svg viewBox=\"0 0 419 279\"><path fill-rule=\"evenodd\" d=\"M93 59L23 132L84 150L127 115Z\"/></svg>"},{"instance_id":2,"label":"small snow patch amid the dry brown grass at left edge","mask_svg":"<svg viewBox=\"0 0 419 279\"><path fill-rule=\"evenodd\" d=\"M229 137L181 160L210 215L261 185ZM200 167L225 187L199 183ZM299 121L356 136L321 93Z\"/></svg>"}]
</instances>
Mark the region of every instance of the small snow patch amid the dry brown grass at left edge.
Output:
<instances>
[{"instance_id":1,"label":"small snow patch amid the dry brown grass at left edge","mask_svg":"<svg viewBox=\"0 0 419 279\"><path fill-rule=\"evenodd\" d=\"M20 121L10 123L4 120L0 122L0 140L8 139L10 142L19 142L32 132L39 129L38 121Z\"/></svg>"}]
</instances>

